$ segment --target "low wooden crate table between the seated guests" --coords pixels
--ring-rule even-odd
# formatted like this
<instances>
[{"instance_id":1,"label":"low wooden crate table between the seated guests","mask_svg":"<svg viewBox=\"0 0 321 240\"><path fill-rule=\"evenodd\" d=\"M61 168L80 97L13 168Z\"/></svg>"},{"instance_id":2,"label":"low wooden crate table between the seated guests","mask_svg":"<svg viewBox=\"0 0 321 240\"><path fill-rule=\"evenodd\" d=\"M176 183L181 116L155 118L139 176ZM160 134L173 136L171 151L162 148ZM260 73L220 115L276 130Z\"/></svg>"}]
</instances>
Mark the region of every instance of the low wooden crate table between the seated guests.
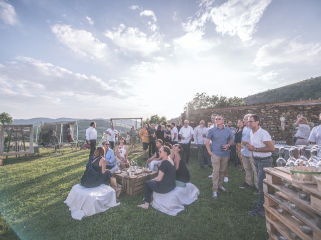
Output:
<instances>
[{"instance_id":1,"label":"low wooden crate table between the seated guests","mask_svg":"<svg viewBox=\"0 0 321 240\"><path fill-rule=\"evenodd\" d=\"M156 177L157 171L143 172L137 175L137 178L129 178L126 171L121 173L112 173L116 177L117 183L122 185L122 189L129 196L139 195L144 191L145 182Z\"/></svg>"}]
</instances>

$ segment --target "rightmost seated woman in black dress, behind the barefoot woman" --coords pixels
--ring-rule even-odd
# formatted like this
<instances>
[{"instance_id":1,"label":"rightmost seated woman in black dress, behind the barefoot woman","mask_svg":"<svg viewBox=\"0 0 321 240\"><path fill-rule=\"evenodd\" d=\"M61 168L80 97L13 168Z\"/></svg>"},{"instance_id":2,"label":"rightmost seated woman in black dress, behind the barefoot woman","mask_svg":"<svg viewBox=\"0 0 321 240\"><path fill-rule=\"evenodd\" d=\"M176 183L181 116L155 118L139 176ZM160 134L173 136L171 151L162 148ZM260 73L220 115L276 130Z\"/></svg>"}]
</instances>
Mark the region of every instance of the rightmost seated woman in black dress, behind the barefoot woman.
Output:
<instances>
[{"instance_id":1,"label":"rightmost seated woman in black dress, behind the barefoot woman","mask_svg":"<svg viewBox=\"0 0 321 240\"><path fill-rule=\"evenodd\" d=\"M176 180L189 182L190 181L190 172L187 169L184 159L181 155L182 147L180 144L173 145L173 151L170 155L170 158L173 159L175 169L176 169Z\"/></svg>"}]
</instances>

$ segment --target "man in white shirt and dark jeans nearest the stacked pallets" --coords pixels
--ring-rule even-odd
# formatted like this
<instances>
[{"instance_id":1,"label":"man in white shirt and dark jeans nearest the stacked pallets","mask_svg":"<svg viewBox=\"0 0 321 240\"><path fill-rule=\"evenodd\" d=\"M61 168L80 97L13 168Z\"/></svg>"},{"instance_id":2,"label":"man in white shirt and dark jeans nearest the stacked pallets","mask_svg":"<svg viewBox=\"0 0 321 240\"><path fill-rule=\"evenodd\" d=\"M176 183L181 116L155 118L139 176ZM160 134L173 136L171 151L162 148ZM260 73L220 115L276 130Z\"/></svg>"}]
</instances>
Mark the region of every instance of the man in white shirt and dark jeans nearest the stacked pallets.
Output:
<instances>
[{"instance_id":1,"label":"man in white shirt and dark jeans nearest the stacked pallets","mask_svg":"<svg viewBox=\"0 0 321 240\"><path fill-rule=\"evenodd\" d=\"M257 185L259 199L257 207L248 211L251 216L264 216L264 192L263 179L265 178L264 167L272 166L272 152L275 151L271 135L260 127L260 117L252 114L248 117L248 126L251 128L250 143L246 148L253 153L254 165L257 173Z\"/></svg>"}]
</instances>

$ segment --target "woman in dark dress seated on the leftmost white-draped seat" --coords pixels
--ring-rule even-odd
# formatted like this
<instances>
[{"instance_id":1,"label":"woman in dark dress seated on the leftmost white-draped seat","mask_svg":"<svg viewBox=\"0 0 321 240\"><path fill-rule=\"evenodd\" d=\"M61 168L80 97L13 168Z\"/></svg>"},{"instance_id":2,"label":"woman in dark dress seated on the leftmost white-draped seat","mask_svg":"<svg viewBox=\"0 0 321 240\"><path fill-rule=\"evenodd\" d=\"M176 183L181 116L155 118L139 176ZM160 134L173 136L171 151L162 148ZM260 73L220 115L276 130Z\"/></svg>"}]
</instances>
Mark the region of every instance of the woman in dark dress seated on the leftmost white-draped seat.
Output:
<instances>
[{"instance_id":1,"label":"woman in dark dress seated on the leftmost white-draped seat","mask_svg":"<svg viewBox=\"0 0 321 240\"><path fill-rule=\"evenodd\" d=\"M86 165L86 170L80 179L80 184L84 187L96 187L102 183L109 185L110 172L106 170L104 148L99 146L90 157Z\"/></svg>"}]
</instances>

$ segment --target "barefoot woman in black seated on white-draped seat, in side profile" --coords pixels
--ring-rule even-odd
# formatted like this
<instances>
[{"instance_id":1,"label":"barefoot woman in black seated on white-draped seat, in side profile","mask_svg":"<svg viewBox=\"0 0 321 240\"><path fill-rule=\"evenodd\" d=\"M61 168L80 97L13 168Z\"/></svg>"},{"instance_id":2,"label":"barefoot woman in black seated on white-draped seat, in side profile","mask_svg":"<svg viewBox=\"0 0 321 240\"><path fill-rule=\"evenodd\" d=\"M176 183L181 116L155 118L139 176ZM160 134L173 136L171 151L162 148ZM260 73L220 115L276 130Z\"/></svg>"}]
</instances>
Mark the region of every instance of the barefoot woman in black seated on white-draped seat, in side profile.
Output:
<instances>
[{"instance_id":1,"label":"barefoot woman in black seated on white-draped seat, in side profile","mask_svg":"<svg viewBox=\"0 0 321 240\"><path fill-rule=\"evenodd\" d=\"M138 207L148 209L153 191L158 193L168 193L175 188L176 169L174 167L173 160L169 158L170 154L171 149L168 146L163 146L161 150L159 150L159 156L166 160L162 161L161 166L159 167L158 176L145 183L145 203L137 205Z\"/></svg>"}]
</instances>

